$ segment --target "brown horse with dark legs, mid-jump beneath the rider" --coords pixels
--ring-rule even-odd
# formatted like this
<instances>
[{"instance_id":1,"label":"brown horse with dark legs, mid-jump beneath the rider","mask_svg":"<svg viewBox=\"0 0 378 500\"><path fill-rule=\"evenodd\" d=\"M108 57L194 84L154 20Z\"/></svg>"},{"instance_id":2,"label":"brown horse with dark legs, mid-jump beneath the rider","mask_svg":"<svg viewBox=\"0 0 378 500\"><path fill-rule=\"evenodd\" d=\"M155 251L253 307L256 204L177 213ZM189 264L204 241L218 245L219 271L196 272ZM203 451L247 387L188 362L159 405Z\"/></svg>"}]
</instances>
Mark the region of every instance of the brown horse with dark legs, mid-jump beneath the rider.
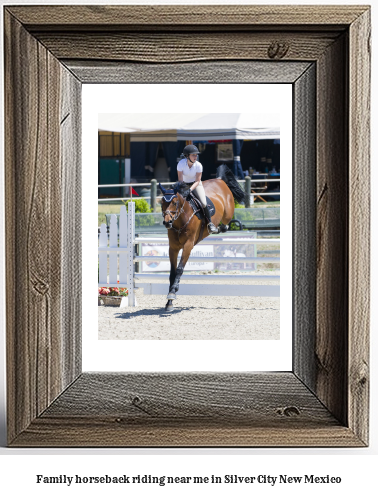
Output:
<instances>
[{"instance_id":1,"label":"brown horse with dark legs, mid-jump beneath the rider","mask_svg":"<svg viewBox=\"0 0 378 500\"><path fill-rule=\"evenodd\" d=\"M228 230L228 223L234 215L234 198L238 202L242 202L245 200L245 193L227 165L220 165L216 175L215 179L204 181L202 185L206 196L210 198L215 207L215 214L211 220L218 227L218 233L223 233ZM190 253L197 243L209 236L209 231L204 222L205 217L201 221L194 216L198 210L194 211L187 200L193 195L185 182L176 182L171 190L164 189L161 184L159 186L163 193L163 224L168 229L169 260L171 263L168 301L165 310L171 312L173 311L172 301L176 299L180 279ZM200 203L199 206L201 206ZM177 257L181 249L182 256L177 265Z\"/></svg>"}]
</instances>

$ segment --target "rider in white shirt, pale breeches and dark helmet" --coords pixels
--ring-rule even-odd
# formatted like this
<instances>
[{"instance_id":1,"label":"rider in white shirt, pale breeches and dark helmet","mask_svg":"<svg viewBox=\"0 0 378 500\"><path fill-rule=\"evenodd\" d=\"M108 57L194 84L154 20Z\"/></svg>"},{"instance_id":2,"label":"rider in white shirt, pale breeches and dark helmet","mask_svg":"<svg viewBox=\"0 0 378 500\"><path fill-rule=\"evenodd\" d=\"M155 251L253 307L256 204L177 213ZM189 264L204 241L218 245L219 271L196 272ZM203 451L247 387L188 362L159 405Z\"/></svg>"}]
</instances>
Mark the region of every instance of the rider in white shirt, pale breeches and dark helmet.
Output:
<instances>
[{"instance_id":1,"label":"rider in white shirt, pale breeches and dark helmet","mask_svg":"<svg viewBox=\"0 0 378 500\"><path fill-rule=\"evenodd\" d=\"M218 229L211 222L211 215L209 207L206 203L205 190L202 186L202 165L197 161L199 151L196 146L190 144L185 146L183 150L183 155L185 158L179 161L177 164L177 175L179 181L184 181L190 186L190 191L192 191L196 197L200 200L205 217L207 219L207 228L209 233L217 233Z\"/></svg>"}]
</instances>

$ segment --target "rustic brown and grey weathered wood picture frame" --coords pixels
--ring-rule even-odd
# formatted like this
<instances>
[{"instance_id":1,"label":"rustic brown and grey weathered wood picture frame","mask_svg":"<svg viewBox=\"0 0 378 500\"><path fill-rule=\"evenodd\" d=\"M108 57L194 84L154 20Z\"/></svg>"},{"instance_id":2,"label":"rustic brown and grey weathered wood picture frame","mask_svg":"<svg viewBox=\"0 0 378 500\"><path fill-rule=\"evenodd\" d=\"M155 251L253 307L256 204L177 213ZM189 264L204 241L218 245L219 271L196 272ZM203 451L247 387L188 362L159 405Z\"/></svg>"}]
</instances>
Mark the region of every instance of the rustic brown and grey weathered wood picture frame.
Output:
<instances>
[{"instance_id":1,"label":"rustic brown and grey weathered wood picture frame","mask_svg":"<svg viewBox=\"0 0 378 500\"><path fill-rule=\"evenodd\" d=\"M7 6L4 22L9 445L367 446L369 7ZM191 63L196 81L242 82L248 61L264 63L253 81L293 84L292 372L81 373L65 293L80 277L81 84Z\"/></svg>"}]
</instances>

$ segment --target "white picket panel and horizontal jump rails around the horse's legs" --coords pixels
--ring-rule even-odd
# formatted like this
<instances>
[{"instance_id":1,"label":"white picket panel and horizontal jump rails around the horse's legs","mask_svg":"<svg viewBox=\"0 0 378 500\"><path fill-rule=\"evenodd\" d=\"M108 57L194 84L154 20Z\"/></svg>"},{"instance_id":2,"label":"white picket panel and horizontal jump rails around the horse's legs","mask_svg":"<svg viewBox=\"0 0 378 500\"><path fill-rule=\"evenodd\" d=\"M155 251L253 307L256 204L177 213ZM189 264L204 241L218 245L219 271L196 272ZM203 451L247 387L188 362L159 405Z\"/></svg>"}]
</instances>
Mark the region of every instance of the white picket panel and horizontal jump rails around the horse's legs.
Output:
<instances>
[{"instance_id":1,"label":"white picket panel and horizontal jump rails around the horse's legs","mask_svg":"<svg viewBox=\"0 0 378 500\"><path fill-rule=\"evenodd\" d=\"M138 237L135 238L135 203L129 203L129 213L126 211L126 206L121 207L119 215L119 227L117 217L112 215L110 220L109 232L107 232L106 224L101 224L99 243L98 243L98 258L99 258L99 284L98 286L127 288L129 292L129 305L135 306L135 287L144 288L146 294L163 294L168 293L169 275L168 274L151 274L151 273L135 273L134 263L143 261L166 261L169 262L168 256L138 256L135 255L135 246L138 243L155 243L168 244L168 238L161 237ZM257 238L230 238L225 235L210 236L199 245L208 245L213 243L216 245L245 245L245 244L271 244L279 243L277 238L269 240ZM220 262L220 263L274 263L280 262L277 257L195 257L189 258L188 262ZM141 283L140 280L146 279L164 279L164 283ZM255 280L255 281L277 281L279 276L260 276L260 275L183 275L182 281L185 280ZM139 281L135 285L135 280ZM223 296L254 296L254 297L278 297L280 287L277 285L217 285L217 284L180 284L179 293L181 295L223 295Z\"/></svg>"}]
</instances>

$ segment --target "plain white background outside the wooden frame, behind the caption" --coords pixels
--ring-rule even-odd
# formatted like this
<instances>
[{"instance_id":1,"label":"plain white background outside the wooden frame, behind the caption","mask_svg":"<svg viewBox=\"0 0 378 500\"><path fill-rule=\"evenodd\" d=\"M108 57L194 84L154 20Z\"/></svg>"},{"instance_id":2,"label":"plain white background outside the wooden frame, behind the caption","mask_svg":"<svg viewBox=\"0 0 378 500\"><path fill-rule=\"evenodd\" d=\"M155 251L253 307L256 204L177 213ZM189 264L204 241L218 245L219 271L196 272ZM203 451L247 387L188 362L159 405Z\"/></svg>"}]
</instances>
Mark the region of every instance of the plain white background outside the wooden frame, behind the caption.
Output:
<instances>
[{"instance_id":1,"label":"plain white background outside the wooden frame, behind the caption","mask_svg":"<svg viewBox=\"0 0 378 500\"><path fill-rule=\"evenodd\" d=\"M11 4L27 3L12 1ZM33 3L42 3L34 0ZM47 3L52 3L47 2ZM63 4L71 3L89 3L83 2L62 2ZM92 0L90 3L99 4L106 2L96 2ZM113 1L113 4L127 3ZM134 4L140 3L134 0ZM155 3L155 2L154 2ZM160 2L156 2L160 3ZM165 2L168 3L168 2ZM178 2L176 2L178 3ZM194 2L188 2L194 3ZM197 2L205 3L205 2ZM254 3L243 2L222 2L217 0L207 4L221 3ZM259 1L259 4L285 4L288 2L278 1L264 2ZM291 4L313 4L314 2L297 2L291 1ZM346 0L324 1L323 4L361 4L366 2ZM374 26L377 23L376 10L372 10L373 21L373 73L372 73L372 89L377 88L376 79L376 53L377 53L377 37L374 31ZM375 35L375 36L374 36ZM2 96L3 98L3 96ZM1 101L3 102L3 100ZM377 137L377 99L376 94L372 92L372 137ZM2 146L3 148L3 146ZM3 149L2 149L3 152ZM372 167L377 165L377 141L372 143ZM377 173L376 169L372 168L371 175L372 192L377 189ZM3 189L3 181L1 180L1 189ZM367 184L368 190L368 184ZM367 192L368 195L368 192ZM0 196L1 197L1 196ZM2 210L1 210L2 212ZM372 197L372 240L371 253L372 256L377 255L377 201ZM4 219L1 219L1 230L4 230ZM1 283L4 279L4 248L1 247ZM367 449L105 449L105 450L8 450L4 448L5 437L5 413L4 404L1 405L0 414L0 430L1 430L1 445L0 448L0 493L4 493L4 498L12 496L20 498L22 495L27 495L29 498L49 499L54 496L57 499L65 499L67 495L71 498L83 498L84 494L99 496L103 494L113 494L114 498L126 498L128 495L147 496L153 495L155 498L192 498L194 495L201 498L211 497L229 497L237 494L239 498L261 498L262 493L264 498L334 498L339 495L343 499L355 499L356 497L373 498L376 492L376 470L377 470L377 265L372 259L372 296L371 296L371 444ZM4 290L4 285L2 285ZM4 295L2 295L1 303L1 327L2 341L1 359L4 359ZM4 391L4 373L1 372L0 388ZM2 397L4 401L4 397ZM341 486L333 485L279 485L251 487L227 485L212 487L208 486L174 486L168 487L148 487L148 489L124 489L117 487L98 486L86 487L67 490L67 486L39 486L35 483L36 474L59 475L59 474L81 474L81 475L99 475L99 474L154 474L154 475L223 475L223 474L239 474L239 475L255 475L255 474L317 474L317 475L340 475L342 476ZM216 489L215 489L216 488ZM7 493L8 491L8 493Z\"/></svg>"}]
</instances>

